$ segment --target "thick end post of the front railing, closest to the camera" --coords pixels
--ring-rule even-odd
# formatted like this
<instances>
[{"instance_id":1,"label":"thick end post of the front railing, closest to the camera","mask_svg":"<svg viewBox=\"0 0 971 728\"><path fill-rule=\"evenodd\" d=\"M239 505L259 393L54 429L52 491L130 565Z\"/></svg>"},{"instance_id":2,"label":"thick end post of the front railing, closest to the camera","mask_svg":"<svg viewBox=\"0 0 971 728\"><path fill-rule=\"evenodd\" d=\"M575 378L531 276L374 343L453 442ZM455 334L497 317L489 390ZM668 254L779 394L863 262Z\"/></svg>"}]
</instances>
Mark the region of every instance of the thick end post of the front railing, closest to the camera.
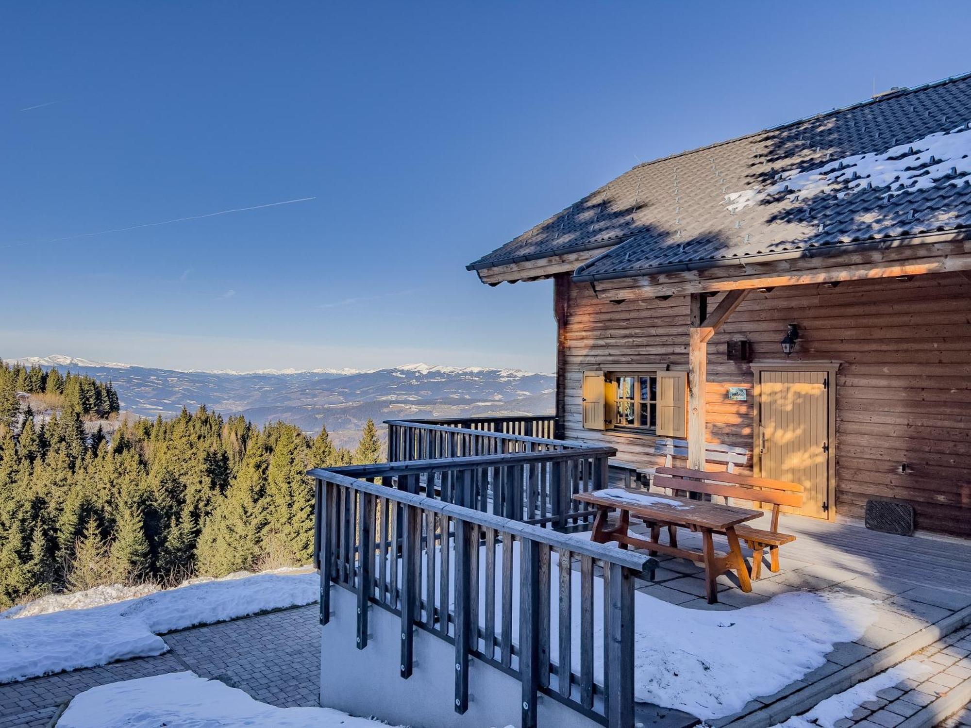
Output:
<instances>
[{"instance_id":1,"label":"thick end post of the front railing, closest to the camera","mask_svg":"<svg viewBox=\"0 0 971 728\"><path fill-rule=\"evenodd\" d=\"M609 728L634 724L634 579L604 564L604 693Z\"/></svg>"}]
</instances>

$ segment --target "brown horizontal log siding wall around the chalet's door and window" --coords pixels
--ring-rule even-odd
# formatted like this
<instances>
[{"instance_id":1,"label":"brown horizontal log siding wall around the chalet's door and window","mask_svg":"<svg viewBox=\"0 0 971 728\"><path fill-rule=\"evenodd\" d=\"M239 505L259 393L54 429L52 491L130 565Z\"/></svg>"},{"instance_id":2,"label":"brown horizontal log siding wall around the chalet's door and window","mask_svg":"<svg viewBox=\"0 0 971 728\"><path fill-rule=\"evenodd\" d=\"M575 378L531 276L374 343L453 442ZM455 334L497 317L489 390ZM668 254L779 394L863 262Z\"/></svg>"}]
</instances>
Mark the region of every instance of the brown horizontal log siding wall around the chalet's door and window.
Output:
<instances>
[{"instance_id":1,"label":"brown horizontal log siding wall around the chalet's door and window","mask_svg":"<svg viewBox=\"0 0 971 728\"><path fill-rule=\"evenodd\" d=\"M614 304L571 282L568 298L565 436L617 447L623 460L659 462L653 437L583 428L582 373L686 369L687 296ZM753 447L753 373L727 361L726 343L748 339L754 362L783 361L790 322L801 338L788 361L845 362L836 390L837 513L858 517L868 498L899 499L915 507L919 528L971 536L971 281L939 274L753 292L708 346L710 442ZM729 386L748 389L748 400L728 400Z\"/></svg>"}]
</instances>

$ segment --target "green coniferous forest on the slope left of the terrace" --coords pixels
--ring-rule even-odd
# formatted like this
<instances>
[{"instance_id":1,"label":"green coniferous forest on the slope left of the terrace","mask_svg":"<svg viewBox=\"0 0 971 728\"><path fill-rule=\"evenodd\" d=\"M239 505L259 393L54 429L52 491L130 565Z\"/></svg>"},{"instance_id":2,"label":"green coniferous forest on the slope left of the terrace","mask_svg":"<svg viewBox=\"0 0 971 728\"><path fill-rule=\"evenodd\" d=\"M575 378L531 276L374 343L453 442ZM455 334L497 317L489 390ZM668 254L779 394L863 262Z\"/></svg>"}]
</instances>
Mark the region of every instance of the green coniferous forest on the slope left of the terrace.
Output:
<instances>
[{"instance_id":1,"label":"green coniferous forest on the slope left of the terrace","mask_svg":"<svg viewBox=\"0 0 971 728\"><path fill-rule=\"evenodd\" d=\"M102 412L117 412L117 395L59 374L61 409L38 423L18 403L17 391L31 391L23 371L0 362L0 607L103 583L307 564L307 469L382 458L371 420L353 451L334 447L326 428L313 438L285 422L260 429L205 406L87 433L84 417L98 412L89 402L107 397ZM53 372L29 386L47 387ZM76 390L100 394L79 401Z\"/></svg>"}]
</instances>

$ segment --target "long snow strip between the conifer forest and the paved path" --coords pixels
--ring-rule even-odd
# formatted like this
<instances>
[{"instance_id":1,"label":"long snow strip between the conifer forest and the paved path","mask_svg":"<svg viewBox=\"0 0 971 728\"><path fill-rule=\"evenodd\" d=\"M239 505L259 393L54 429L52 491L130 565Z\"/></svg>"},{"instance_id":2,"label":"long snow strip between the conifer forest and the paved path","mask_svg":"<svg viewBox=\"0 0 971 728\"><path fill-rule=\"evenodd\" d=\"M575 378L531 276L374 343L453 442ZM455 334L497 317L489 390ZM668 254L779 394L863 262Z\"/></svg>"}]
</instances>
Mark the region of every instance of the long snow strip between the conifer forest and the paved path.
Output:
<instances>
[{"instance_id":1,"label":"long snow strip between the conifer forest and the paved path","mask_svg":"<svg viewBox=\"0 0 971 728\"><path fill-rule=\"evenodd\" d=\"M265 573L189 583L87 609L7 612L13 618L0 619L0 682L161 654L168 646L160 634L310 604L318 591L315 573ZM105 594L88 597L98 603Z\"/></svg>"}]
</instances>

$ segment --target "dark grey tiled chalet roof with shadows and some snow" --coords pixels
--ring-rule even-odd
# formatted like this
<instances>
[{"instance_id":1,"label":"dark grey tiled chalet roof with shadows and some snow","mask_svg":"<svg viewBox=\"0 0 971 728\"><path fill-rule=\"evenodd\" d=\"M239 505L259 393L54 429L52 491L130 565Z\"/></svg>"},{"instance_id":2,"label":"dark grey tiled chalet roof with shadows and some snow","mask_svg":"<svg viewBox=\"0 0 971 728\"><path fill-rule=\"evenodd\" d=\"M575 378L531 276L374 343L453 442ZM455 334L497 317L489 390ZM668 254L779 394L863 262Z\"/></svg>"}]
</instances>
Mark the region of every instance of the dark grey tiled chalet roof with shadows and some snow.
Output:
<instances>
[{"instance_id":1,"label":"dark grey tiled chalet roof with shadows and some snow","mask_svg":"<svg viewBox=\"0 0 971 728\"><path fill-rule=\"evenodd\" d=\"M576 275L617 278L964 227L971 160L929 156L926 138L951 132L963 143L968 122L971 74L675 154L634 167L469 268L613 246ZM960 151L955 139L949 149ZM891 149L894 161L873 160ZM868 184L854 179L864 165L849 157L860 154L870 157ZM904 179L878 177L887 165L907 169ZM792 177L808 170L825 179Z\"/></svg>"}]
</instances>

